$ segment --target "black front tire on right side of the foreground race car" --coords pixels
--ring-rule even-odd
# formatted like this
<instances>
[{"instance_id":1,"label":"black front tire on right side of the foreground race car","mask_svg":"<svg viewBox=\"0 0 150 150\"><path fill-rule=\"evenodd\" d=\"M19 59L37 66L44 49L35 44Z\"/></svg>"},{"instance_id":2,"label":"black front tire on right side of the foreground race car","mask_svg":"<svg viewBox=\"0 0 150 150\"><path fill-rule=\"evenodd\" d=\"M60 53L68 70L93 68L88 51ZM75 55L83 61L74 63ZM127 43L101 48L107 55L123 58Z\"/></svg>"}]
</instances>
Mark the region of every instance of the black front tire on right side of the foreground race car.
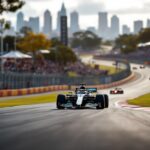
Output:
<instances>
[{"instance_id":1,"label":"black front tire on right side of the foreground race car","mask_svg":"<svg viewBox=\"0 0 150 150\"><path fill-rule=\"evenodd\" d=\"M96 109L104 109L105 108L105 100L103 95L96 95Z\"/></svg>"}]
</instances>

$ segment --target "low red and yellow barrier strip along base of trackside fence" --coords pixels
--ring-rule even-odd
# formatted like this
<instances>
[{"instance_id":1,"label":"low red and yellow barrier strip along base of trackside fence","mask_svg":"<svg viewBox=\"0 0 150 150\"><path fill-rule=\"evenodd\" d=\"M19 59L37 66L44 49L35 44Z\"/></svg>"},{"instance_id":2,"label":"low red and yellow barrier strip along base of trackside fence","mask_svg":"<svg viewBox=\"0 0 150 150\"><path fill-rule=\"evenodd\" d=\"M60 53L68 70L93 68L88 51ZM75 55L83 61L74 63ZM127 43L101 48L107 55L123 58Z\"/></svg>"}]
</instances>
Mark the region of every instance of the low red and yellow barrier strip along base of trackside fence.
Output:
<instances>
[{"instance_id":1,"label":"low red and yellow barrier strip along base of trackside fence","mask_svg":"<svg viewBox=\"0 0 150 150\"><path fill-rule=\"evenodd\" d=\"M90 85L87 87L95 87L97 89L107 89L116 87L122 84L133 80L135 75L132 73L129 77L116 81L109 84L101 84L101 85ZM54 92L54 91L66 91L66 90L74 90L77 86L68 86L68 85L55 85L55 86L46 86L46 87L37 87L37 88L26 88L26 89L15 89L15 90L0 90L0 97L8 97L8 96L23 96L29 94L38 94L38 93L46 93L46 92Z\"/></svg>"}]
</instances>

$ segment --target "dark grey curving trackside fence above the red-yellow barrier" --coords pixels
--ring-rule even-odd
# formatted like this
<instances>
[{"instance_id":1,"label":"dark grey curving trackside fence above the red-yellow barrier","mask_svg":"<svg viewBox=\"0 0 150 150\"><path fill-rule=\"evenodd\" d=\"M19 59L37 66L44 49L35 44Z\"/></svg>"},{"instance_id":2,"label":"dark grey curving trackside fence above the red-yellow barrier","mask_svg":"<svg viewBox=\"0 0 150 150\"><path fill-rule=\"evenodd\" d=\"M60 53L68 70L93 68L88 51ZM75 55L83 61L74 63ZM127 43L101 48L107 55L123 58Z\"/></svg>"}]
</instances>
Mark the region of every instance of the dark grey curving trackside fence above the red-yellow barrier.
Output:
<instances>
[{"instance_id":1,"label":"dark grey curving trackside fence above the red-yellow barrier","mask_svg":"<svg viewBox=\"0 0 150 150\"><path fill-rule=\"evenodd\" d=\"M116 61L116 69L120 72L113 75L67 77L63 75L37 75L21 73L0 73L0 89L24 89L46 87L50 85L87 85L109 84L128 77L131 74L130 65L123 60Z\"/></svg>"}]
</instances>

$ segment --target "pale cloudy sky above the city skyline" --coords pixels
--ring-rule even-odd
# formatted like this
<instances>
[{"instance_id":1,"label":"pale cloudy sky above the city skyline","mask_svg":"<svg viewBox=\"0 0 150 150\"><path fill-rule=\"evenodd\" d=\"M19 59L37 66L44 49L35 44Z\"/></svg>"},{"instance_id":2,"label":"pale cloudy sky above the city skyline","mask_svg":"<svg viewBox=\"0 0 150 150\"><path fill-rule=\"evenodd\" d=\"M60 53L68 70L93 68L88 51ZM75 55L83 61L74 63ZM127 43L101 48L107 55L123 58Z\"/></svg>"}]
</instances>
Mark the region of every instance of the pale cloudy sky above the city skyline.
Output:
<instances>
[{"instance_id":1,"label":"pale cloudy sky above the city skyline","mask_svg":"<svg viewBox=\"0 0 150 150\"><path fill-rule=\"evenodd\" d=\"M56 27L57 12L62 3L65 3L67 14L76 10L80 15L80 27L85 29L89 26L98 27L98 12L108 12L108 20L112 15L117 15L120 24L127 24L133 29L134 20L150 19L150 0L24 0L25 5L19 11L25 15L25 19L30 16L40 16L40 24L43 25L43 13L50 10L53 16L53 26ZM11 20L13 25L16 23L16 13L4 13L1 17ZM68 23L69 24L69 23Z\"/></svg>"}]
</instances>

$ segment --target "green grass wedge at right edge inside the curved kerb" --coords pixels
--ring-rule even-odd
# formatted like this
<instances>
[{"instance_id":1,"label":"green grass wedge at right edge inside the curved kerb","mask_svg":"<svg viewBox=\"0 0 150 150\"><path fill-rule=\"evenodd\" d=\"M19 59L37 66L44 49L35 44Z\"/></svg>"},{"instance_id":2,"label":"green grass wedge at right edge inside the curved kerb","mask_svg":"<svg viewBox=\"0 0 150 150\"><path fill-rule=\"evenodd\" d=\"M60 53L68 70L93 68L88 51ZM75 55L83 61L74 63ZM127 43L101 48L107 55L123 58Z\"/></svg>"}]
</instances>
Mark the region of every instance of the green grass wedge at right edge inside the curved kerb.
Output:
<instances>
[{"instance_id":1,"label":"green grass wedge at right edge inside the curved kerb","mask_svg":"<svg viewBox=\"0 0 150 150\"><path fill-rule=\"evenodd\" d=\"M132 100L128 100L128 103L131 105L150 107L150 93L140 96L138 98L132 99Z\"/></svg>"}]
</instances>

